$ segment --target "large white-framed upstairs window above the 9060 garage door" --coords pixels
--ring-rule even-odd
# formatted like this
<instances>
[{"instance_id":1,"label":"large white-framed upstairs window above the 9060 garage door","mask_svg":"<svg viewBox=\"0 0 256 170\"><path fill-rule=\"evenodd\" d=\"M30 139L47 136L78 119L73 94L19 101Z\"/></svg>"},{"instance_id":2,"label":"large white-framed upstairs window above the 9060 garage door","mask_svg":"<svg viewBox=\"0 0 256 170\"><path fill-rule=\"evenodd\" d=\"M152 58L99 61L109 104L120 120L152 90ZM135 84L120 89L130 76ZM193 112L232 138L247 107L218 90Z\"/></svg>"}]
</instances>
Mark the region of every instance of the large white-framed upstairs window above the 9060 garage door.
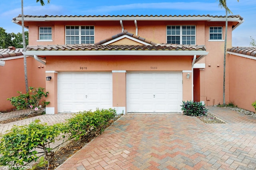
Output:
<instances>
[{"instance_id":1,"label":"large white-framed upstairs window above the 9060 garage door","mask_svg":"<svg viewBox=\"0 0 256 170\"><path fill-rule=\"evenodd\" d=\"M196 45L196 26L167 25L167 43Z\"/></svg>"}]
</instances>

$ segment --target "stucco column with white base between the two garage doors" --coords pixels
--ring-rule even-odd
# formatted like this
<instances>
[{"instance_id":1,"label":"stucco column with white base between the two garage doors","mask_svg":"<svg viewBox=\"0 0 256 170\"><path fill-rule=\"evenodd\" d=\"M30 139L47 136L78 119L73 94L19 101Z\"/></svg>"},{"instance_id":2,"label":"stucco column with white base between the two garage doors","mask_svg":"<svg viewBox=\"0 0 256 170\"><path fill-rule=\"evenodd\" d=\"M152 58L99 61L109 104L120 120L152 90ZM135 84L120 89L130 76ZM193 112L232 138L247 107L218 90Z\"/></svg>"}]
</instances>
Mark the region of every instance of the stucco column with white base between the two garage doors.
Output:
<instances>
[{"instance_id":1,"label":"stucco column with white base between the two garage doors","mask_svg":"<svg viewBox=\"0 0 256 170\"><path fill-rule=\"evenodd\" d=\"M113 107L117 114L126 113L126 71L112 71Z\"/></svg>"}]
</instances>

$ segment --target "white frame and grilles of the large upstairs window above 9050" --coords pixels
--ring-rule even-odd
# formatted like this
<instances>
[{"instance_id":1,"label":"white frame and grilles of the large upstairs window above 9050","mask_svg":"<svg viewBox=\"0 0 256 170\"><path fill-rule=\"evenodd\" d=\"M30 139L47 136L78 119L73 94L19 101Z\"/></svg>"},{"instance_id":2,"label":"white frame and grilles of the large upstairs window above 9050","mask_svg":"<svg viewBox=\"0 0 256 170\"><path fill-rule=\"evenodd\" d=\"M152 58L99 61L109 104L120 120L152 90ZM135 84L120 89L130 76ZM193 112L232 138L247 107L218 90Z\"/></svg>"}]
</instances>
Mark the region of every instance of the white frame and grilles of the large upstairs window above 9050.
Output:
<instances>
[{"instance_id":1,"label":"white frame and grilles of the large upstairs window above 9050","mask_svg":"<svg viewBox=\"0 0 256 170\"><path fill-rule=\"evenodd\" d=\"M76 30L74 30L74 35L67 35L67 27L78 27L78 33L76 33ZM89 35L86 34L86 31L84 32L84 35L82 35L82 27L93 27L93 35L91 35L90 33L90 30L89 30ZM76 29L76 28L75 28ZM78 37L78 39L76 40L67 40L67 37ZM89 37L90 40L82 40L82 37ZM93 38L92 38L93 37ZM92 39L93 40L92 40ZM65 44L66 45L73 45L71 43L67 43L67 41L78 41L78 44L84 44L82 43L82 41L90 41L90 44L94 44L94 41L95 41L95 27L94 25L66 25L65 26ZM76 44L76 42L75 42Z\"/></svg>"}]
</instances>

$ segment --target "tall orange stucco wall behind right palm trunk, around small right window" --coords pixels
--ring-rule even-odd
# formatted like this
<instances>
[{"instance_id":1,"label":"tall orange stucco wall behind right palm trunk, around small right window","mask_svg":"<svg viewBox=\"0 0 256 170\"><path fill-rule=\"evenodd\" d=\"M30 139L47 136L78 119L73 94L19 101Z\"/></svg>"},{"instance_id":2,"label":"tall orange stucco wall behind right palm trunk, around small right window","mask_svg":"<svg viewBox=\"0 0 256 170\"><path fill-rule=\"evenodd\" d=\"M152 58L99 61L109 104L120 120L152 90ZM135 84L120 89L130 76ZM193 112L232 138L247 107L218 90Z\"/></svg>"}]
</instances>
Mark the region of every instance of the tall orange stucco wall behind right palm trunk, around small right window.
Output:
<instances>
[{"instance_id":1,"label":"tall orange stucco wall behind right palm trunk, around small right window","mask_svg":"<svg viewBox=\"0 0 256 170\"><path fill-rule=\"evenodd\" d=\"M200 101L204 101L206 106L216 104L223 104L223 70L224 70L224 36L225 36L225 23L218 23L223 27L223 40L222 41L209 41L209 27L217 23L208 23L204 27L204 43L208 55L199 63L205 63L204 70L200 71ZM198 27L197 27L198 28ZM228 27L227 35L227 48L232 47L232 28L231 23ZM226 63L226 70L229 64ZM230 102L229 99L229 75L226 74L226 95L225 103Z\"/></svg>"}]
</instances>

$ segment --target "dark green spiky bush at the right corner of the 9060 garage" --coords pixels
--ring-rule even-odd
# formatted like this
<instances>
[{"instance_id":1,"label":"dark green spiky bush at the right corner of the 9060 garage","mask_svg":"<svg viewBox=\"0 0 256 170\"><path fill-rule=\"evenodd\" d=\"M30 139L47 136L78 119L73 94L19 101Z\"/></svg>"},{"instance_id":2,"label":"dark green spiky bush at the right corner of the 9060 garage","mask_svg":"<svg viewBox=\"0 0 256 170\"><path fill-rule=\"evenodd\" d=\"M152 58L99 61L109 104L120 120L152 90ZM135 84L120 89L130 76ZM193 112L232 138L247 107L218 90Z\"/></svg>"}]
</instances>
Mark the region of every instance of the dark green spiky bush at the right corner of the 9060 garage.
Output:
<instances>
[{"instance_id":1,"label":"dark green spiky bush at the right corner of the 9060 garage","mask_svg":"<svg viewBox=\"0 0 256 170\"><path fill-rule=\"evenodd\" d=\"M194 102L194 101L182 101L182 105L180 105L182 108L184 115L189 116L205 116L207 115L208 109L205 108L205 104L202 104L202 102Z\"/></svg>"}]
</instances>

